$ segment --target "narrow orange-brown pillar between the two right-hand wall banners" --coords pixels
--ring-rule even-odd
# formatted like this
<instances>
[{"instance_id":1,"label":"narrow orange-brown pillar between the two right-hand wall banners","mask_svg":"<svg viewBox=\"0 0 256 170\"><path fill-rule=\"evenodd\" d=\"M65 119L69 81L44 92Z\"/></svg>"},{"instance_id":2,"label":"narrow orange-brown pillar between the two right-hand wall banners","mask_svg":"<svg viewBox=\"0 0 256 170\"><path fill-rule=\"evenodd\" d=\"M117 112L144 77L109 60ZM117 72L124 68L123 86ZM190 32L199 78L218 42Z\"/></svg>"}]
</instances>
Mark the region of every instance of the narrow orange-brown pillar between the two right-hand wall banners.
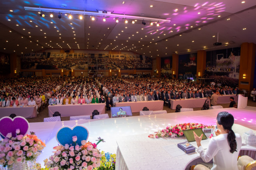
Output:
<instances>
[{"instance_id":1,"label":"narrow orange-brown pillar between the two right-hand wall banners","mask_svg":"<svg viewBox=\"0 0 256 170\"><path fill-rule=\"evenodd\" d=\"M206 68L206 51L197 51L196 78L200 78Z\"/></svg>"}]
</instances>

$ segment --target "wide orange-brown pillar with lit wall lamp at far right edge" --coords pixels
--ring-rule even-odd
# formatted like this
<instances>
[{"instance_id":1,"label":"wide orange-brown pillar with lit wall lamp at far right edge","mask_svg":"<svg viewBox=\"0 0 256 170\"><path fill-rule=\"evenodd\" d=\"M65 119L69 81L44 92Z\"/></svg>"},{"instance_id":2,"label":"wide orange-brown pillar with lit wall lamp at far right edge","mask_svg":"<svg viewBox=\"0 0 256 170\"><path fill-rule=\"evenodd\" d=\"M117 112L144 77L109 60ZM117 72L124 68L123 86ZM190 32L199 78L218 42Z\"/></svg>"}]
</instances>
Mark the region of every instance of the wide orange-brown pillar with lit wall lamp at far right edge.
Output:
<instances>
[{"instance_id":1,"label":"wide orange-brown pillar with lit wall lamp at far right edge","mask_svg":"<svg viewBox=\"0 0 256 170\"><path fill-rule=\"evenodd\" d=\"M239 89L251 91L254 82L255 68L255 49L254 43L242 43L239 70Z\"/></svg>"}]
</instances>

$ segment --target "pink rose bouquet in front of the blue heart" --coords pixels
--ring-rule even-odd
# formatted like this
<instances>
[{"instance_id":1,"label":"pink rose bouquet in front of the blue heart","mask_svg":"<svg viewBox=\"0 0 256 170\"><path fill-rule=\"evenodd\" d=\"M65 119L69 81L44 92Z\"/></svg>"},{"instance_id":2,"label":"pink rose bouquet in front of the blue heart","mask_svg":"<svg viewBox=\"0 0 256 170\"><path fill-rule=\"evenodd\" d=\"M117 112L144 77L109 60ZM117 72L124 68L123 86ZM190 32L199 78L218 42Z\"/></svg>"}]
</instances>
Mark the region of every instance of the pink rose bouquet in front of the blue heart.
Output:
<instances>
[{"instance_id":1,"label":"pink rose bouquet in front of the blue heart","mask_svg":"<svg viewBox=\"0 0 256 170\"><path fill-rule=\"evenodd\" d=\"M49 168L49 170L92 170L100 166L102 155L100 150L97 149L97 145L103 139L98 138L99 140L96 144L82 140L81 146L76 144L76 136L73 136L72 139L74 145L58 145L53 148L56 150L54 155L44 161L46 168Z\"/></svg>"}]
</instances>

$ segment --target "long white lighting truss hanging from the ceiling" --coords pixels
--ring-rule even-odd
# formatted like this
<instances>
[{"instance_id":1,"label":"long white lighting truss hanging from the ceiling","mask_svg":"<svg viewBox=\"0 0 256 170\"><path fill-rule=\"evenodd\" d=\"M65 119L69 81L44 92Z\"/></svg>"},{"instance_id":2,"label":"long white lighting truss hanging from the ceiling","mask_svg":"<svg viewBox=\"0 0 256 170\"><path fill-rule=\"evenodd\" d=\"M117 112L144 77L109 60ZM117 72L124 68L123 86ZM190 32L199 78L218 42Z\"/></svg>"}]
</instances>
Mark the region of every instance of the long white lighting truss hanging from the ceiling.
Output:
<instances>
[{"instance_id":1,"label":"long white lighting truss hanging from the ceiling","mask_svg":"<svg viewBox=\"0 0 256 170\"><path fill-rule=\"evenodd\" d=\"M103 17L108 16L108 17L114 17L114 18L129 18L129 19L134 19L134 20L137 19L137 20L168 22L168 23L170 23L170 21L171 21L171 20L164 20L164 19L160 19L160 18L132 16L132 15L125 15L125 14L113 14L111 12L104 13L103 11L92 12L92 11L80 11L80 10L65 10L65 9L57 9L57 8L36 8L36 7L27 7L27 6L24 6L24 10L79 14L79 15L90 15L90 16L103 16Z\"/></svg>"}]
</instances>

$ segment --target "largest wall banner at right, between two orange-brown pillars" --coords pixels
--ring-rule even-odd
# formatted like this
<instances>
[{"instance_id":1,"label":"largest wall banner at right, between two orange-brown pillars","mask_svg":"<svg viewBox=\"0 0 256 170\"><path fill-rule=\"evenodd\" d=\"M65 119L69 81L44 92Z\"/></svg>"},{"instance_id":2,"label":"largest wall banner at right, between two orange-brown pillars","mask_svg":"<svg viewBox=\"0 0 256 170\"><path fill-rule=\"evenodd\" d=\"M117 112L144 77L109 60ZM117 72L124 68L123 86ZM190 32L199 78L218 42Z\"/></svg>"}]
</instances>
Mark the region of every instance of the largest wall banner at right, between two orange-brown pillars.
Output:
<instances>
[{"instance_id":1,"label":"largest wall banner at right, between two orange-brown pillars","mask_svg":"<svg viewBox=\"0 0 256 170\"><path fill-rule=\"evenodd\" d=\"M207 51L204 78L214 78L216 84L237 86L240 69L240 47Z\"/></svg>"}]
</instances>

